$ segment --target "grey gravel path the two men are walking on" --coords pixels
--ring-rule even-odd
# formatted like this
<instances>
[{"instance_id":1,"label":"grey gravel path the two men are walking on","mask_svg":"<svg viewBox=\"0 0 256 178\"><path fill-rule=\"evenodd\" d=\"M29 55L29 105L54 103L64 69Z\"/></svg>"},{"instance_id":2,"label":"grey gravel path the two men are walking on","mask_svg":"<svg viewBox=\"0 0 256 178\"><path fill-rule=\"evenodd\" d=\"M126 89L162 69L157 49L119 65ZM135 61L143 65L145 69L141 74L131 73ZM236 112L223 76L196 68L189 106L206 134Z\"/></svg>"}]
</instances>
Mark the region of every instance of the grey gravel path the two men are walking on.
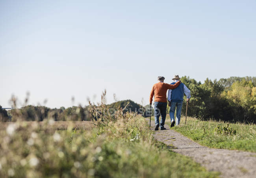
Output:
<instances>
[{"instance_id":1,"label":"grey gravel path the two men are walking on","mask_svg":"<svg viewBox=\"0 0 256 178\"><path fill-rule=\"evenodd\" d=\"M154 130L154 125L154 121L151 121L151 130ZM170 148L174 152L191 157L208 171L221 172L221 177L224 178L256 178L255 153L208 148L170 130L167 124L165 128L167 130L156 131L154 138L166 145L173 145Z\"/></svg>"}]
</instances>

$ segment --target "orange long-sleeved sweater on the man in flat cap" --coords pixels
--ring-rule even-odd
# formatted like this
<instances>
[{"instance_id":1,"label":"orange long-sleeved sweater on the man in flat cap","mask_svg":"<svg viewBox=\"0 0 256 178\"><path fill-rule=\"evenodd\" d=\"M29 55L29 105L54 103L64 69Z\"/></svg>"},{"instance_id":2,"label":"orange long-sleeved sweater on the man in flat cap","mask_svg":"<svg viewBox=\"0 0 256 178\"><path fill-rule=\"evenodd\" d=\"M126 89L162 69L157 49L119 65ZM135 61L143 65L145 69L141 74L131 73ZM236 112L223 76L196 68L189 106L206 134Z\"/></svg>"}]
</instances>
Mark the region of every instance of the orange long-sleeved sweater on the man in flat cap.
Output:
<instances>
[{"instance_id":1,"label":"orange long-sleeved sweater on the man in flat cap","mask_svg":"<svg viewBox=\"0 0 256 178\"><path fill-rule=\"evenodd\" d=\"M166 92L168 89L174 89L180 85L180 81L173 85L163 82L155 83L152 87L149 97L149 103L152 104L153 96L155 95L154 101L156 102L167 102Z\"/></svg>"}]
</instances>

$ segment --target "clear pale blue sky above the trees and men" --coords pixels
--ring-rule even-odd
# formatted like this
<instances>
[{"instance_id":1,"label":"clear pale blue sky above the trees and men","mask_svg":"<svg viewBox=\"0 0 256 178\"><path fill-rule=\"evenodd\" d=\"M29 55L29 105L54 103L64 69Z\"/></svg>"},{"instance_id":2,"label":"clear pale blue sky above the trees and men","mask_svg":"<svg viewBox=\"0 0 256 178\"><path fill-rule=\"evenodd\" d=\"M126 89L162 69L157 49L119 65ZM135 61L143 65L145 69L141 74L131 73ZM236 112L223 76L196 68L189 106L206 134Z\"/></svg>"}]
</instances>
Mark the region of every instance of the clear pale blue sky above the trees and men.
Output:
<instances>
[{"instance_id":1,"label":"clear pale blue sky above the trees and men","mask_svg":"<svg viewBox=\"0 0 256 178\"><path fill-rule=\"evenodd\" d=\"M0 105L148 103L157 76L256 76L255 0L1 0ZM71 98L74 96L75 102Z\"/></svg>"}]
</instances>

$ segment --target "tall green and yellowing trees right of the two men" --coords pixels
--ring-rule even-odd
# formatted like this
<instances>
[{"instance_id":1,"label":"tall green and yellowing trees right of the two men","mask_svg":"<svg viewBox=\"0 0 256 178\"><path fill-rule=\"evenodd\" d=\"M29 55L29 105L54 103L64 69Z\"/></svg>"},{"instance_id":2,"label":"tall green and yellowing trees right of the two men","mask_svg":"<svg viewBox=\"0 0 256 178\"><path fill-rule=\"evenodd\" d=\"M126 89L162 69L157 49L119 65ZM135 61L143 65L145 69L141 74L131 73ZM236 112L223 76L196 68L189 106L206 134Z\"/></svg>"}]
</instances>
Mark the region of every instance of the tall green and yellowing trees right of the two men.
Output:
<instances>
[{"instance_id":1,"label":"tall green and yellowing trees right of the two men","mask_svg":"<svg viewBox=\"0 0 256 178\"><path fill-rule=\"evenodd\" d=\"M200 119L256 122L256 77L230 77L202 84L189 77L180 79L190 90L188 115ZM186 113L186 97L182 113Z\"/></svg>"}]
</instances>

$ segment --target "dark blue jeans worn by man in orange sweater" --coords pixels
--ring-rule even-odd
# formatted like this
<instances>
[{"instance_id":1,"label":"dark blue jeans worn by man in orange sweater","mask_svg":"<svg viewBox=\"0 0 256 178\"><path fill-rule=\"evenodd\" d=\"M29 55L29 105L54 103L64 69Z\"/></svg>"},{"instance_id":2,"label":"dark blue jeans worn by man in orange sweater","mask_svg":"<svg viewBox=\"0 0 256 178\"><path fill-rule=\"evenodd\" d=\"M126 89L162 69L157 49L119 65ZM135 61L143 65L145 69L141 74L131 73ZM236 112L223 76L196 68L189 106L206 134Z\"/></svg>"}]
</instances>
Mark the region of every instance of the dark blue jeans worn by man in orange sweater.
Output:
<instances>
[{"instance_id":1,"label":"dark blue jeans worn by man in orange sweater","mask_svg":"<svg viewBox=\"0 0 256 178\"><path fill-rule=\"evenodd\" d=\"M160 127L163 127L165 124L165 117L166 117L166 102L154 102L155 105L155 125L159 125L159 117L161 114L161 121Z\"/></svg>"}]
</instances>

